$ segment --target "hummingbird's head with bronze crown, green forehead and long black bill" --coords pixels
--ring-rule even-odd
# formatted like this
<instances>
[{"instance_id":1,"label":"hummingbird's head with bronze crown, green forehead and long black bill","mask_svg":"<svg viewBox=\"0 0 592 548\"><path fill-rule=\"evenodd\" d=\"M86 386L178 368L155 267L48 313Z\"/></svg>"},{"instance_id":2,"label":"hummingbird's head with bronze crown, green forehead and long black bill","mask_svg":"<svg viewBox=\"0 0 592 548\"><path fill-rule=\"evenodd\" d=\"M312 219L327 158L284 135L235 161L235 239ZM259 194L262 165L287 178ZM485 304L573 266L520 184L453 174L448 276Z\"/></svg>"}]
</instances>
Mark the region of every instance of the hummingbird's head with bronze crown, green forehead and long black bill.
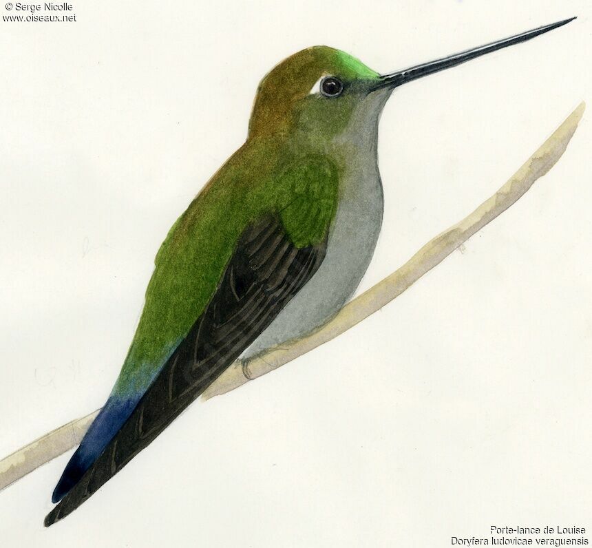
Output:
<instances>
[{"instance_id":1,"label":"hummingbird's head with bronze crown, green forehead and long black bill","mask_svg":"<svg viewBox=\"0 0 592 548\"><path fill-rule=\"evenodd\" d=\"M346 52L327 46L307 48L276 65L261 81L249 123L249 136L304 132L310 139L324 141L341 134L350 126L352 118L366 116L372 118L368 122L376 125L395 87L529 40L572 19L382 75Z\"/></svg>"}]
</instances>

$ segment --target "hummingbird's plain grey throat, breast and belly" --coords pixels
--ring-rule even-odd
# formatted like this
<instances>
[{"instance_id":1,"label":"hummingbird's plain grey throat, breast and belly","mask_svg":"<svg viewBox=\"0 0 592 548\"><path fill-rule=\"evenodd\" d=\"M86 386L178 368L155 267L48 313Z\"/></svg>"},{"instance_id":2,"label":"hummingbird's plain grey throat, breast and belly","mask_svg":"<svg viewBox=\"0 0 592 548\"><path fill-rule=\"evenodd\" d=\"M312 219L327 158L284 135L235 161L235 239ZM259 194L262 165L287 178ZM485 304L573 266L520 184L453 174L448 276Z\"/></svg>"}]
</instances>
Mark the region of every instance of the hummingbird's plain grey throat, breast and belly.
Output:
<instances>
[{"instance_id":1,"label":"hummingbird's plain grey throat, breast and belly","mask_svg":"<svg viewBox=\"0 0 592 548\"><path fill-rule=\"evenodd\" d=\"M285 341L303 337L334 316L355 293L376 247L383 216L377 165L378 120L389 92L372 94L352 116L348 131L331 147L346 154L339 205L319 270L242 353L250 358Z\"/></svg>"}]
</instances>

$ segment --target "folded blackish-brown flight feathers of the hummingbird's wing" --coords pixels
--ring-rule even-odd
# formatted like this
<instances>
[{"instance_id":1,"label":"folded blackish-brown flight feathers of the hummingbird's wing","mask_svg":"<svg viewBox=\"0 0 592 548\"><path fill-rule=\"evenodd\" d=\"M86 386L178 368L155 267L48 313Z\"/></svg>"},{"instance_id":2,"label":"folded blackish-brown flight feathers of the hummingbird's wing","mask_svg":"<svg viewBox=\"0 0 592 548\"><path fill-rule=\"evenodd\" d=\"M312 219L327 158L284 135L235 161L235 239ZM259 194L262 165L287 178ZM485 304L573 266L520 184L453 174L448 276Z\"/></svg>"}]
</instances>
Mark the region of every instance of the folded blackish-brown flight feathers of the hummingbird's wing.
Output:
<instances>
[{"instance_id":1,"label":"folded blackish-brown flight feathers of the hummingbird's wing","mask_svg":"<svg viewBox=\"0 0 592 548\"><path fill-rule=\"evenodd\" d=\"M325 251L326 240L297 248L275 216L249 226L204 313L45 526L92 496L204 392L310 280Z\"/></svg>"}]
</instances>

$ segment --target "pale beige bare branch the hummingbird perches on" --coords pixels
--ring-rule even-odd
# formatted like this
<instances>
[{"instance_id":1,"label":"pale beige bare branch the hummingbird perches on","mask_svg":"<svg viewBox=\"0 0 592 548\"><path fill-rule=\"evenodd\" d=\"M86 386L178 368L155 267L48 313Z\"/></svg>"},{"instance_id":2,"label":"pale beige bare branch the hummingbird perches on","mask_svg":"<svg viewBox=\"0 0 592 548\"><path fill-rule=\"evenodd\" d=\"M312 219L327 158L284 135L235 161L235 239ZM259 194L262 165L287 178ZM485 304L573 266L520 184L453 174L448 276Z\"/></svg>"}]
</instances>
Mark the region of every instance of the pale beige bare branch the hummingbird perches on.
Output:
<instances>
[{"instance_id":1,"label":"pale beige bare branch the hummingbird perches on","mask_svg":"<svg viewBox=\"0 0 592 548\"><path fill-rule=\"evenodd\" d=\"M514 204L539 177L545 175L555 165L578 127L584 108L584 103L580 103L564 123L494 196L483 202L467 218L425 244L397 271L346 304L328 324L308 337L289 341L282 344L281 348L272 349L250 361L235 361L202 394L202 399L224 394L242 386L251 379L277 369L284 363L288 363L288 361L334 339L337 335L341 335L401 295L405 289L434 268L436 264L442 262L445 257L482 229L485 224ZM97 413L98 410L53 430L0 461L0 489L78 445Z\"/></svg>"}]
</instances>

